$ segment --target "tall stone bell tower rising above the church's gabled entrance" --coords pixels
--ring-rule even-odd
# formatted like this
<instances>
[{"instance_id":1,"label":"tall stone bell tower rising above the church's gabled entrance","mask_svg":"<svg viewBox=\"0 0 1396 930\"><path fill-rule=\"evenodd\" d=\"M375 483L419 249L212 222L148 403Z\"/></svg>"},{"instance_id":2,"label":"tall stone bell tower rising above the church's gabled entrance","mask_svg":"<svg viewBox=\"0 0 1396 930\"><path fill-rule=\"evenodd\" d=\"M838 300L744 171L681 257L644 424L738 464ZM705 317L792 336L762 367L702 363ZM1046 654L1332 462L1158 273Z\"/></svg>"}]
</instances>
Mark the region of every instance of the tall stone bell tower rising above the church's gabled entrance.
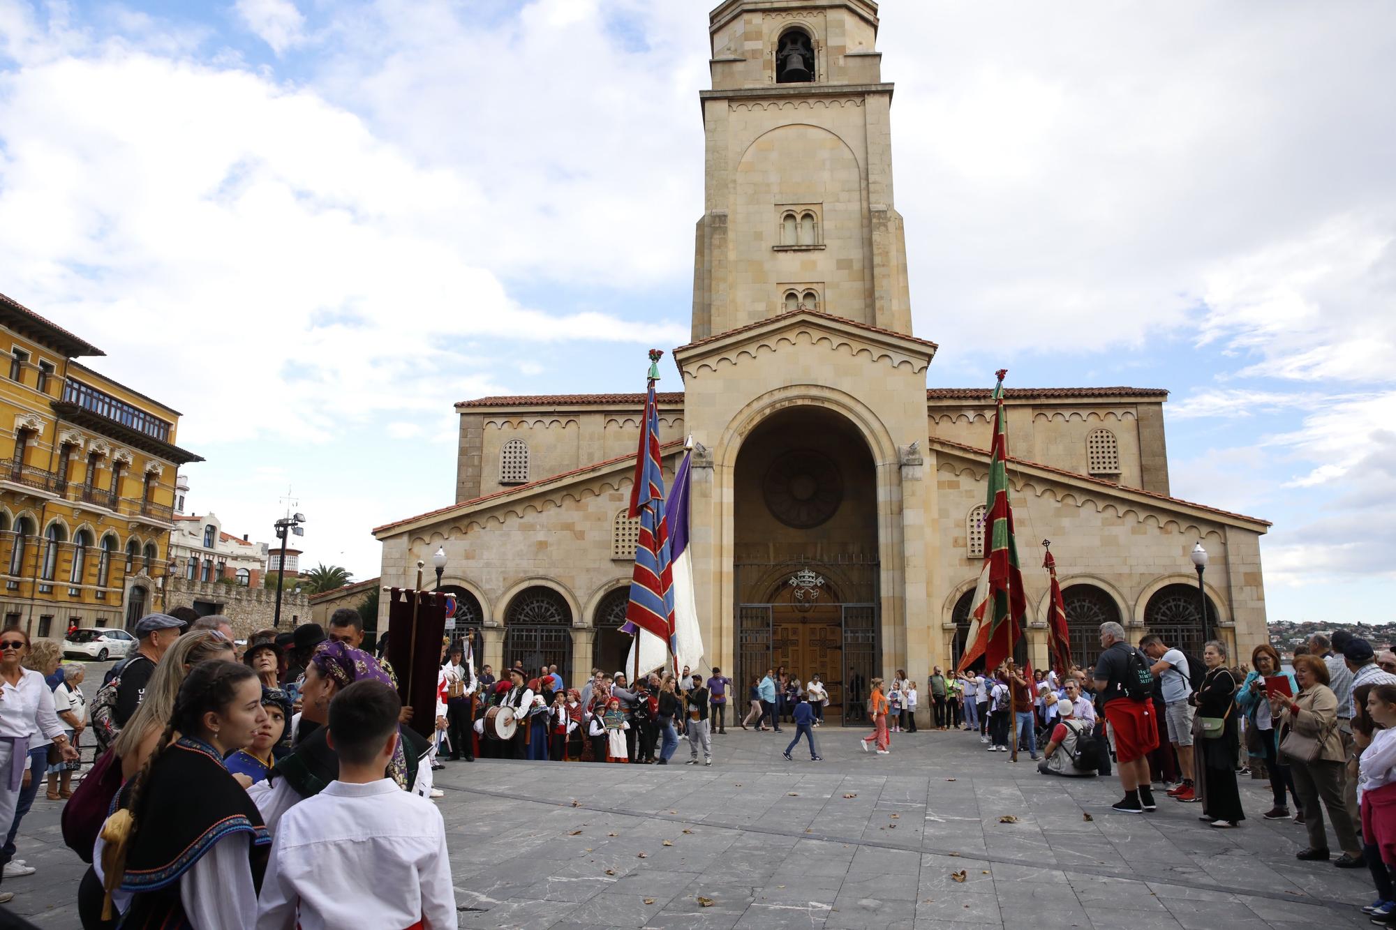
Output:
<instances>
[{"instance_id":1,"label":"tall stone bell tower rising above the church's gabled entrance","mask_svg":"<svg viewBox=\"0 0 1396 930\"><path fill-rule=\"evenodd\" d=\"M712 89L694 339L804 306L910 334L871 0L727 0Z\"/></svg>"}]
</instances>

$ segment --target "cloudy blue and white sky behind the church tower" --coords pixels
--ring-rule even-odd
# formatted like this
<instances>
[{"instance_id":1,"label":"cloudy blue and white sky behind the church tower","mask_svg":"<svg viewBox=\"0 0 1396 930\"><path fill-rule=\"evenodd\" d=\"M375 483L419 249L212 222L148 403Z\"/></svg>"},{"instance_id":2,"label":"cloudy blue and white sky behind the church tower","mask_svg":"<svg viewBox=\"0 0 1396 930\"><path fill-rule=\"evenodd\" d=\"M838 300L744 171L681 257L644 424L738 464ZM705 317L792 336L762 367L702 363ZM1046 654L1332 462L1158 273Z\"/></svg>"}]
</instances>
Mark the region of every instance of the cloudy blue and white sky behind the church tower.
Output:
<instances>
[{"instance_id":1,"label":"cloudy blue and white sky behind the church tower","mask_svg":"<svg viewBox=\"0 0 1396 930\"><path fill-rule=\"evenodd\" d=\"M184 412L193 507L268 539L290 489L371 577L451 500L452 402L687 341L708 6L0 0L0 290ZM930 383L1170 388L1173 492L1276 524L1275 620L1396 619L1393 36L882 4Z\"/></svg>"}]
</instances>

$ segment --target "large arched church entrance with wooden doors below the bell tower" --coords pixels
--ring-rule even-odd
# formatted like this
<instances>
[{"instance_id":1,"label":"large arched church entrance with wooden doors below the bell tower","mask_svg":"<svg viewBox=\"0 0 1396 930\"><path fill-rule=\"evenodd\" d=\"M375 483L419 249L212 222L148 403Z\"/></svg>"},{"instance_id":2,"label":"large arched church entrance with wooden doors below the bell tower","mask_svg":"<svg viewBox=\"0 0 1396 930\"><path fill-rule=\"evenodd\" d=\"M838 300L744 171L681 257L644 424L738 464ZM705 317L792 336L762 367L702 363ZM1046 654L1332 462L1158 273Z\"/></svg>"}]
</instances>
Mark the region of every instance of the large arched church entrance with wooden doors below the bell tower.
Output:
<instances>
[{"instance_id":1,"label":"large arched church entrance with wooden doors below the bell tower","mask_svg":"<svg viewBox=\"0 0 1396 930\"><path fill-rule=\"evenodd\" d=\"M764 420L734 473L736 691L785 666L829 691L825 718L867 719L879 666L877 472L859 430L821 406Z\"/></svg>"}]
</instances>

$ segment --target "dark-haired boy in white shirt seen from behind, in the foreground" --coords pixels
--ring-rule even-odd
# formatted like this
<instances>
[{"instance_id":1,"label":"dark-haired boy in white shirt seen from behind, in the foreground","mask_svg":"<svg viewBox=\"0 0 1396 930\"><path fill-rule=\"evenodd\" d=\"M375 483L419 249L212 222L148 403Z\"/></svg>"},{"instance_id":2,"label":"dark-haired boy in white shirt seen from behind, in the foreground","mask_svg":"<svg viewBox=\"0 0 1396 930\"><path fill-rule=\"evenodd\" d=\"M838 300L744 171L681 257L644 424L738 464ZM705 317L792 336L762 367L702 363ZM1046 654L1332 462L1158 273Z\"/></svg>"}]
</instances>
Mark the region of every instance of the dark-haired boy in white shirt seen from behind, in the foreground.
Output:
<instances>
[{"instance_id":1,"label":"dark-haired boy in white shirt seen from behind, in the foreground","mask_svg":"<svg viewBox=\"0 0 1396 930\"><path fill-rule=\"evenodd\" d=\"M339 778L282 814L258 930L456 926L441 813L383 776L401 709L381 681L356 681L329 702Z\"/></svg>"}]
</instances>

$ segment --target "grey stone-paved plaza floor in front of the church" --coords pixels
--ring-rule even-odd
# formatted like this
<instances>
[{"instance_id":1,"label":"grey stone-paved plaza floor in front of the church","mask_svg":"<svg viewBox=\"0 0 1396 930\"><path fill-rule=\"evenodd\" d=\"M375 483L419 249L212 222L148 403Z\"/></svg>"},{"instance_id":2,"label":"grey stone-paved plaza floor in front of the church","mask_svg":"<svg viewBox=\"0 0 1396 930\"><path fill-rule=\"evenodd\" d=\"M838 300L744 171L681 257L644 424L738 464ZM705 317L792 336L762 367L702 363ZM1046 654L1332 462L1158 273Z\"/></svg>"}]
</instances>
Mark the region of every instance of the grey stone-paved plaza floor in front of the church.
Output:
<instances>
[{"instance_id":1,"label":"grey stone-paved plaza floor in front of the church","mask_svg":"<svg viewBox=\"0 0 1396 930\"><path fill-rule=\"evenodd\" d=\"M459 926L1371 926L1365 870L1297 862L1304 829L1261 820L1265 782L1242 778L1249 820L1220 831L1161 795L1113 813L1115 779L1039 775L967 733L893 735L891 755L859 735L819 730L824 762L741 730L712 768L448 762ZM20 838L39 871L4 888L34 923L78 927L57 814L40 793Z\"/></svg>"}]
</instances>

